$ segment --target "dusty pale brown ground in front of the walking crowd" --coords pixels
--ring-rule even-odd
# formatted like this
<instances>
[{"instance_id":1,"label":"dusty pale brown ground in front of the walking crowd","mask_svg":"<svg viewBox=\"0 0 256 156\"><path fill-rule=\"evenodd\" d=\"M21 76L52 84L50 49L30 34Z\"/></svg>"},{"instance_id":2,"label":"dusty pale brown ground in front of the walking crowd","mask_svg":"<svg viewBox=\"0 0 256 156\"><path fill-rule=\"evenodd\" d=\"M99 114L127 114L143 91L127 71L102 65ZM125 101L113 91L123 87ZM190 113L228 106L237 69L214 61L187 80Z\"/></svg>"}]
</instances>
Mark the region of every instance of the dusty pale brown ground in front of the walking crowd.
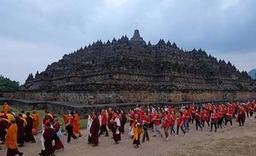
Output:
<instances>
[{"instance_id":1,"label":"dusty pale brown ground in front of the walking crowd","mask_svg":"<svg viewBox=\"0 0 256 156\"><path fill-rule=\"evenodd\" d=\"M191 131L186 135L174 135L167 142L164 138L150 137L149 142L140 145L139 149L134 149L132 140L125 134L121 135L121 143L115 145L111 137L102 136L97 147L87 144L88 135L86 131L82 131L83 137L75 143L66 145L64 151L58 151L56 156L71 155L111 155L111 156L131 156L131 155L147 155L147 156L178 156L178 155L256 155L254 148L256 145L256 120L253 122L245 122L244 127L239 127L237 123L234 126L227 126L218 129L217 132L209 132L206 127L203 131L194 131L194 125ZM163 130L162 130L163 131ZM150 131L150 135L153 135ZM62 140L66 140L66 136L62 136ZM36 156L40 151L39 136L36 136L36 144L26 144L20 150L25 156ZM6 147L2 145L0 155L6 155Z\"/></svg>"}]
</instances>

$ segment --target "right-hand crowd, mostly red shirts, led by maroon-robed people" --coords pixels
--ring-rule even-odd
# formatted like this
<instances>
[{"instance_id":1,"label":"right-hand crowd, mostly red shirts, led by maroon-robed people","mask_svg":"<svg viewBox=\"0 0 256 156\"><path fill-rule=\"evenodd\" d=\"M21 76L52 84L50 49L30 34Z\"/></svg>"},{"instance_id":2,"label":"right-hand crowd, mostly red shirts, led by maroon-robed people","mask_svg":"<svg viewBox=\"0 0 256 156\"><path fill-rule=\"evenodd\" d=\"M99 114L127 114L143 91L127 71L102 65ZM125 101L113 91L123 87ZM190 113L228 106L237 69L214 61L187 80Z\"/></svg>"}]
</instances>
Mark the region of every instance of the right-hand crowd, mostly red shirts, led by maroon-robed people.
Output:
<instances>
[{"instance_id":1,"label":"right-hand crowd, mostly red shirts, led by maroon-robed people","mask_svg":"<svg viewBox=\"0 0 256 156\"><path fill-rule=\"evenodd\" d=\"M233 126L234 120L238 122L239 126L244 126L246 116L252 120L255 111L255 101L220 105L206 103L201 106L191 104L182 105L179 108L137 106L131 108L127 116L121 108L116 111L108 108L107 110L103 109L98 116L96 112L92 112L92 117L89 116L88 144L97 146L100 135L106 133L108 136L107 127L112 132L112 139L118 144L121 141L121 134L125 132L126 122L128 122L128 135L133 139L133 145L137 149L140 146L140 140L142 143L145 140L149 141L149 130L154 132L152 137L163 137L164 134L165 140L168 141L169 135L178 136L179 131L186 135L192 129L192 125L195 126L196 131L202 131L203 128L217 131L217 129L227 126L228 123ZM162 129L164 129L164 133L162 133Z\"/></svg>"}]
</instances>

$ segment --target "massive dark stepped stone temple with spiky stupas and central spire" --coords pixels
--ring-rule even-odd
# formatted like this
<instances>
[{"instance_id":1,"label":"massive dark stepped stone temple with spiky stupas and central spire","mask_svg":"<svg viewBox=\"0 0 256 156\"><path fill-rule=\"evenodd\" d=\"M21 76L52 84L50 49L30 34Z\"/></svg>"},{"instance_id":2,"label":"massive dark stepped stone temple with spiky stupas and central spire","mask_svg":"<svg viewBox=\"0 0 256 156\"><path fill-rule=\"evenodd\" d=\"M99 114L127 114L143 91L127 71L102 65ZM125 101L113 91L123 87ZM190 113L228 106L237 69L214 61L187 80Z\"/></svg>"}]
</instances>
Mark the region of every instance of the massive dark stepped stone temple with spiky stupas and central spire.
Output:
<instances>
[{"instance_id":1,"label":"massive dark stepped stone temple with spiky stupas and central spire","mask_svg":"<svg viewBox=\"0 0 256 156\"><path fill-rule=\"evenodd\" d=\"M256 83L204 50L184 51L163 39L146 44L135 30L131 39L99 40L64 55L6 96L85 104L249 99Z\"/></svg>"}]
</instances>

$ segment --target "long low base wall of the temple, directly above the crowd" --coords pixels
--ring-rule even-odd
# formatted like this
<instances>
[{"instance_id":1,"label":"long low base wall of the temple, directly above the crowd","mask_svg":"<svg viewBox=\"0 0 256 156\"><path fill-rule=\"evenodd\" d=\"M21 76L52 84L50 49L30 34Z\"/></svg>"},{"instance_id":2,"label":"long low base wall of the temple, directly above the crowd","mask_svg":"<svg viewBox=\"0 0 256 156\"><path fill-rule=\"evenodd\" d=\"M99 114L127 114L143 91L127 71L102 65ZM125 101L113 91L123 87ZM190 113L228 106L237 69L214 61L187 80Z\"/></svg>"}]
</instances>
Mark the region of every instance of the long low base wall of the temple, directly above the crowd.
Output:
<instances>
[{"instance_id":1,"label":"long low base wall of the temple, directly above the crowd","mask_svg":"<svg viewBox=\"0 0 256 156\"><path fill-rule=\"evenodd\" d=\"M83 104L101 103L155 103L155 102L191 102L208 100L255 99L256 93L246 91L119 91L119 92L17 92L3 93L8 99L33 99L38 101L59 101Z\"/></svg>"}]
</instances>

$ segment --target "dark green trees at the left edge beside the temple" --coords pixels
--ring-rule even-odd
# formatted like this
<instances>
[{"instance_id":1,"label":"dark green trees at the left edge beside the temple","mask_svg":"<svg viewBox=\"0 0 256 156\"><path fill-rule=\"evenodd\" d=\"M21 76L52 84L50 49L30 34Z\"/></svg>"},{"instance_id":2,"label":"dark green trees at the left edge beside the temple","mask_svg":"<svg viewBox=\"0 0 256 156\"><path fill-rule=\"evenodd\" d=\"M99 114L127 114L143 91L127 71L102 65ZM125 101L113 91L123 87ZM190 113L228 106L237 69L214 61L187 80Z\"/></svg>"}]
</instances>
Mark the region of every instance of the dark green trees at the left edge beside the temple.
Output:
<instances>
[{"instance_id":1,"label":"dark green trees at the left edge beside the temple","mask_svg":"<svg viewBox=\"0 0 256 156\"><path fill-rule=\"evenodd\" d=\"M0 76L0 91L16 91L20 89L21 85L19 82Z\"/></svg>"}]
</instances>

